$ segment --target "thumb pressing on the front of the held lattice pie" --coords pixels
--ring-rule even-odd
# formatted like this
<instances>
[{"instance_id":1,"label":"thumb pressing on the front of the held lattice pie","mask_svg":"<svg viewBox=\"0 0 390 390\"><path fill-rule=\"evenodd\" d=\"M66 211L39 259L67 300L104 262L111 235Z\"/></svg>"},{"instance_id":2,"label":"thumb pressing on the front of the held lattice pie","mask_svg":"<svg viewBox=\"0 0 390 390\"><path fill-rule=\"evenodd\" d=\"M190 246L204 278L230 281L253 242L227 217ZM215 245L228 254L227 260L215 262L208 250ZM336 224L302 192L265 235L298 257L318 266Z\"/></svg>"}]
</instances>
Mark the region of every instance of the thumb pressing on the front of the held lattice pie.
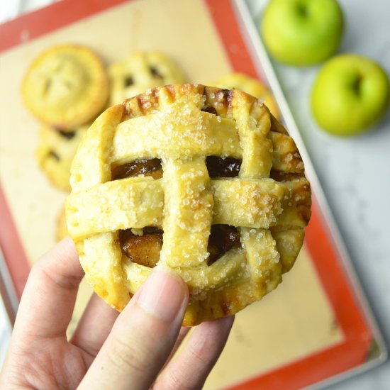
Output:
<instances>
[{"instance_id":1,"label":"thumb pressing on the front of the held lattice pie","mask_svg":"<svg viewBox=\"0 0 390 390\"><path fill-rule=\"evenodd\" d=\"M79 388L148 389L174 347L187 303L183 280L155 267L118 316Z\"/></svg>"}]
</instances>

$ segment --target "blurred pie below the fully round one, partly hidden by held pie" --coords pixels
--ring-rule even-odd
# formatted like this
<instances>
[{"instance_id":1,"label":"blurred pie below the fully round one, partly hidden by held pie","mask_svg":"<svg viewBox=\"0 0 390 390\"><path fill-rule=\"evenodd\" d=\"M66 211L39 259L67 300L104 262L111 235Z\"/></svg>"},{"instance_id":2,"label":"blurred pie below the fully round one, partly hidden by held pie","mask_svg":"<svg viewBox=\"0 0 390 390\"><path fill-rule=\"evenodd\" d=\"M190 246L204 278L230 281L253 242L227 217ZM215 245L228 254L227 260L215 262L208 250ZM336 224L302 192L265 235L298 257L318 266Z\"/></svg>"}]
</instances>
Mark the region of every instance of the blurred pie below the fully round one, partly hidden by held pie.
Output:
<instances>
[{"instance_id":1,"label":"blurred pie below the fully round one, partly hidden by held pie","mask_svg":"<svg viewBox=\"0 0 390 390\"><path fill-rule=\"evenodd\" d=\"M88 126L80 126L72 131L56 130L49 126L40 128L36 150L39 166L50 182L63 191L70 191L70 165L87 129Z\"/></svg>"}]
</instances>

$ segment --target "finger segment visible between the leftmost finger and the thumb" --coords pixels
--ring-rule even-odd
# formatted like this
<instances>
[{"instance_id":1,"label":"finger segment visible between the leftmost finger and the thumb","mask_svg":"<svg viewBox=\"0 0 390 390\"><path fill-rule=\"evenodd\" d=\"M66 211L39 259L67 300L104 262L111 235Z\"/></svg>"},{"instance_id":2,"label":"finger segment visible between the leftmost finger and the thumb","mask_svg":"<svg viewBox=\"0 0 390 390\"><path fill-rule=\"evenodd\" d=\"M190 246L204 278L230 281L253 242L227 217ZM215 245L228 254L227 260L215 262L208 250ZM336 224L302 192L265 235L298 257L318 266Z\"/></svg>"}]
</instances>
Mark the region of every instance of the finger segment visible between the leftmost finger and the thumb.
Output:
<instances>
[{"instance_id":1,"label":"finger segment visible between the leftmost finger and the thumb","mask_svg":"<svg viewBox=\"0 0 390 390\"><path fill-rule=\"evenodd\" d=\"M118 315L118 311L93 294L74 331L72 344L87 352L91 357L95 357L106 341Z\"/></svg>"}]
</instances>

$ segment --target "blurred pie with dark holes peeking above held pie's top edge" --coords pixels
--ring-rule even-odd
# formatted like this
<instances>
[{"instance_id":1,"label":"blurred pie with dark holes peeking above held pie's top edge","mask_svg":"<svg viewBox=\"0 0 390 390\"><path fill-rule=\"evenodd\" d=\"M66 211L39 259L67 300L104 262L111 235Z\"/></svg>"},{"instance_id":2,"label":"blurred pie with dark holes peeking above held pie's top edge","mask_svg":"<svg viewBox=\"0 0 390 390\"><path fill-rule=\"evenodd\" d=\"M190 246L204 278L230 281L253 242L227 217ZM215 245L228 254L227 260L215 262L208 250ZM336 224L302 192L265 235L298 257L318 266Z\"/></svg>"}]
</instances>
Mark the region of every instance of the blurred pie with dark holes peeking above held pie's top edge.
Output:
<instances>
[{"instance_id":1,"label":"blurred pie with dark holes peeking above held pie's top edge","mask_svg":"<svg viewBox=\"0 0 390 390\"><path fill-rule=\"evenodd\" d=\"M108 69L111 79L111 106L147 89L185 82L182 69L161 52L133 52Z\"/></svg>"}]
</instances>

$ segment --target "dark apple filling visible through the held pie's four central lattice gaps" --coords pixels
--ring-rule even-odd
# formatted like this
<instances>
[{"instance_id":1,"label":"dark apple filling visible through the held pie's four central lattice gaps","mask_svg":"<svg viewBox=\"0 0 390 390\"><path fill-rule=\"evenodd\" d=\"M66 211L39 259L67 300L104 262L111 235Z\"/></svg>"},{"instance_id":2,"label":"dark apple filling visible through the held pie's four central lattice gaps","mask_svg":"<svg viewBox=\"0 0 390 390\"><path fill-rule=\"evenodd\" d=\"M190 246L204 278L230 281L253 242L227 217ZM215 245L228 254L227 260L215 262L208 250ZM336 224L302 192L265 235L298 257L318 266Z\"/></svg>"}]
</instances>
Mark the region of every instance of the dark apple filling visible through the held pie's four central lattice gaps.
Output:
<instances>
[{"instance_id":1,"label":"dark apple filling visible through the held pie's four central lattice gaps","mask_svg":"<svg viewBox=\"0 0 390 390\"><path fill-rule=\"evenodd\" d=\"M209 156L206 166L210 177L236 177L240 171L241 161L233 158ZM135 160L113 168L112 179L125 179L140 174L160 179L162 177L161 160ZM155 267L160 259L163 243L163 231L158 226L147 226L143 229L126 229L119 231L119 243L123 255L132 262ZM225 252L240 247L240 234L237 228L230 225L212 225L208 238L207 250L210 253L208 265L216 262Z\"/></svg>"}]
</instances>

